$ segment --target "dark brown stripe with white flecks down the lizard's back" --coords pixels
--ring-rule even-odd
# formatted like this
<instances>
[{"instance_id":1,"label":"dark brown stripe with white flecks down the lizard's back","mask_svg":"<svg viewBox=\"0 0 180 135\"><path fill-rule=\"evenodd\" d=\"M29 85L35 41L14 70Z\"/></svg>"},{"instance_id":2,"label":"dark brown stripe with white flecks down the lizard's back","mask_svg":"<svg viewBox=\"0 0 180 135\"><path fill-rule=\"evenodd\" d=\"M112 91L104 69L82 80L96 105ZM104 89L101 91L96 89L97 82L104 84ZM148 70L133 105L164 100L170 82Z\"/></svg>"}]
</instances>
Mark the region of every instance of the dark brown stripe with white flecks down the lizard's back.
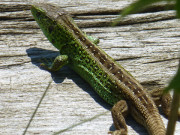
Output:
<instances>
[{"instance_id":1,"label":"dark brown stripe with white flecks down the lizard's back","mask_svg":"<svg viewBox=\"0 0 180 135\"><path fill-rule=\"evenodd\" d=\"M67 16L63 16L62 20L67 24L68 27L70 27L74 34L78 37L78 39L84 43L86 48L94 54L94 57L96 57L99 62L104 65L118 80L122 81L129 89L131 89L134 94L141 93L141 89L137 86L135 82L130 81L131 79L124 75L124 71L122 71L118 65L116 65L113 61L107 58L107 56L93 43L91 43L89 40L86 39L86 37L82 34L82 32L76 28L75 25L71 24L71 21L69 20ZM145 97L145 99L147 99Z\"/></svg>"}]
</instances>

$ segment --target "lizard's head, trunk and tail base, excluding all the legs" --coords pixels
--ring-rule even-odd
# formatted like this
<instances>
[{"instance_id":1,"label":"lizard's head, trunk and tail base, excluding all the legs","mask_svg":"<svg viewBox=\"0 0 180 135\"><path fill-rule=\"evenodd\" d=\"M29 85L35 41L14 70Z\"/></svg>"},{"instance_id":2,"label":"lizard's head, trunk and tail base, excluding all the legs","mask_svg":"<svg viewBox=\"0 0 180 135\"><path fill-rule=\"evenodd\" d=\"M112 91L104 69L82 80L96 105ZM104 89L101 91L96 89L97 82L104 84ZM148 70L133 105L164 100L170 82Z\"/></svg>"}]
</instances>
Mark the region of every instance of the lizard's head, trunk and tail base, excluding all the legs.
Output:
<instances>
[{"instance_id":1,"label":"lizard's head, trunk and tail base, excluding all the legs","mask_svg":"<svg viewBox=\"0 0 180 135\"><path fill-rule=\"evenodd\" d=\"M164 135L157 108L142 86L112 58L87 39L62 9L48 4L32 6L32 14L49 41L67 54L70 67L81 75L108 103L125 98L131 115L149 134ZM116 100L115 100L116 99Z\"/></svg>"}]
</instances>

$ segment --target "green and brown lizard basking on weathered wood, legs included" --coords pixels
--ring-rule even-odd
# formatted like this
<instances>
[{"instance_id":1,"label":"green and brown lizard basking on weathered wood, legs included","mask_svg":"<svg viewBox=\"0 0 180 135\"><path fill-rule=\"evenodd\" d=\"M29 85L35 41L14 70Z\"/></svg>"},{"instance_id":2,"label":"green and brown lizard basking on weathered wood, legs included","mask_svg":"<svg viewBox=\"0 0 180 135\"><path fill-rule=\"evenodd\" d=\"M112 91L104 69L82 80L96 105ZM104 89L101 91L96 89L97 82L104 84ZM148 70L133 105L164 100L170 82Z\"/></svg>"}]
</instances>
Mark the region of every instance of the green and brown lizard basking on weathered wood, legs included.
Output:
<instances>
[{"instance_id":1,"label":"green and brown lizard basking on weathered wood, legs included","mask_svg":"<svg viewBox=\"0 0 180 135\"><path fill-rule=\"evenodd\" d=\"M50 71L57 71L67 64L100 97L114 105L111 112L117 130L112 134L127 134L124 117L130 113L150 135L165 135L157 106L162 103L162 108L168 115L171 102L169 94L163 95L162 90L148 93L129 72L89 39L61 8L36 4L32 6L31 12L44 35L61 54L51 67L44 64L42 66Z\"/></svg>"}]
</instances>

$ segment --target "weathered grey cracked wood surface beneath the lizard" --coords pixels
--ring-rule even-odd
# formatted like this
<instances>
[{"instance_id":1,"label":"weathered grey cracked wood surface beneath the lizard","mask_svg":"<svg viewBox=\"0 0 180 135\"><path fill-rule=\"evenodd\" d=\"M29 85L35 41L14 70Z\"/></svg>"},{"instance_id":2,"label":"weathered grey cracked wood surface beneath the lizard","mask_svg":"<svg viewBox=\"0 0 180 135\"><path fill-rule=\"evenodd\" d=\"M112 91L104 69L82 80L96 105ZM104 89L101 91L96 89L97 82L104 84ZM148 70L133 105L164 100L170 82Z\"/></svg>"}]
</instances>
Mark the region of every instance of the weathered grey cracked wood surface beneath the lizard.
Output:
<instances>
[{"instance_id":1,"label":"weathered grey cracked wood surface beneath the lizard","mask_svg":"<svg viewBox=\"0 0 180 135\"><path fill-rule=\"evenodd\" d=\"M83 31L100 38L99 46L146 88L164 87L177 70L180 23L175 11L156 5L127 16L119 26L107 27L130 2L61 0L58 4ZM111 106L83 79L68 67L57 73L39 68L43 58L58 52L29 9L26 1L0 1L0 135L21 135L27 127L27 135L108 134L114 130ZM147 134L131 117L127 124L129 135ZM180 134L179 122L175 134Z\"/></svg>"}]
</instances>

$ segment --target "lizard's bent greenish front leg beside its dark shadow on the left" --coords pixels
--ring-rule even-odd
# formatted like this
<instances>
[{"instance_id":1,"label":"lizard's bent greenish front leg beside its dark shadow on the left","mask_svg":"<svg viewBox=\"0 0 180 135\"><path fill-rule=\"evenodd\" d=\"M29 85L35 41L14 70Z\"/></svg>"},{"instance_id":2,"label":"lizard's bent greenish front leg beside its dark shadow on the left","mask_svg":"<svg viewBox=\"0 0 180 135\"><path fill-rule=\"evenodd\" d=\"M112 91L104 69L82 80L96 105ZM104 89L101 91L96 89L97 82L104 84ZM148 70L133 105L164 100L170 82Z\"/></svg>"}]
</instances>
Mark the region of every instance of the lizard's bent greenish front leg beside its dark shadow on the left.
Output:
<instances>
[{"instance_id":1,"label":"lizard's bent greenish front leg beside its dark shadow on the left","mask_svg":"<svg viewBox=\"0 0 180 135\"><path fill-rule=\"evenodd\" d=\"M59 55L54 59L54 62L51 65L41 63L40 67L42 67L50 72L56 72L56 71L60 70L66 64L68 64L68 56L67 55Z\"/></svg>"}]
</instances>

